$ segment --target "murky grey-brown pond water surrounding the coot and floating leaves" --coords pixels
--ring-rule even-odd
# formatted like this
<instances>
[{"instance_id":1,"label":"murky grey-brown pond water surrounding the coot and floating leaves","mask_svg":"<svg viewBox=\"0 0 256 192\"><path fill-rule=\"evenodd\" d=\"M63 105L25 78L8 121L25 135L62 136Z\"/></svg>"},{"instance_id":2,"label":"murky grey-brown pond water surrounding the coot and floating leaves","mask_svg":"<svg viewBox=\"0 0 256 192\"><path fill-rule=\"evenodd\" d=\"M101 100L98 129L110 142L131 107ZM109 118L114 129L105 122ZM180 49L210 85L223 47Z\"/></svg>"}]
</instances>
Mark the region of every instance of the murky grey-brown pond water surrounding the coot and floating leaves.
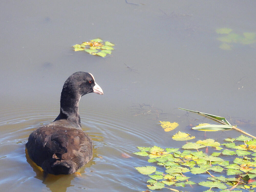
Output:
<instances>
[{"instance_id":1,"label":"murky grey-brown pond water surrounding the coot and floating leaves","mask_svg":"<svg viewBox=\"0 0 256 192\"><path fill-rule=\"evenodd\" d=\"M153 164L132 154L136 146L179 148L186 141L172 140L177 131L219 142L241 135L191 130L189 124L212 121L177 107L224 116L255 135L255 43L232 41L223 50L215 30L255 33L256 1L4 1L0 7L1 190L145 191L148 177L134 167ZM112 55L72 50L94 38L114 43ZM56 118L62 85L76 71L91 72L104 91L79 105L94 158L81 176L45 178L25 143ZM179 126L165 132L158 121Z\"/></svg>"}]
</instances>

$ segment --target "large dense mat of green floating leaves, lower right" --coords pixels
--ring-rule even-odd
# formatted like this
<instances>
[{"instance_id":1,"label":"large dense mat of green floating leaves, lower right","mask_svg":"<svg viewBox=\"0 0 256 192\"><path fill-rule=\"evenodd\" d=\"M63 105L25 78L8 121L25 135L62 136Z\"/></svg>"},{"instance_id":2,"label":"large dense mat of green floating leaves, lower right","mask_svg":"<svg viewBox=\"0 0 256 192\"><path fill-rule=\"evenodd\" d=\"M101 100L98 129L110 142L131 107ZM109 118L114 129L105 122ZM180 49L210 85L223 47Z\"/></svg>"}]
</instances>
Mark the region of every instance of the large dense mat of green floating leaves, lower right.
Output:
<instances>
[{"instance_id":1,"label":"large dense mat of green floating leaves, lower right","mask_svg":"<svg viewBox=\"0 0 256 192\"><path fill-rule=\"evenodd\" d=\"M150 185L147 185L147 187L151 190L168 188L172 191L180 191L170 188L170 186L185 187L186 185L198 184L209 187L206 191L213 191L212 188L226 189L227 187L253 191L256 188L256 149L254 148L256 140L247 139L242 135L235 140L232 138L225 139L230 143L223 144L213 139L199 140L195 143L186 143L182 146L183 149L164 149L158 146L138 147L140 152L143 153L135 152L134 154L140 156L148 154L147 158L150 160L148 162L157 166L135 168L140 173L150 177L147 180ZM244 143L244 145L239 145L239 143ZM208 152L198 151L199 148L203 147L218 151L208 155ZM219 155L222 158L217 157ZM238 158L240 155L242 157ZM227 159L230 160L227 161ZM156 171L158 166L161 166L161 172ZM186 174L188 175L186 176ZM191 177L191 174L204 175L196 177L202 180L195 180L195 177ZM205 174L211 176L207 178L211 181L203 181L206 178ZM216 174L221 174L221 176L215 176Z\"/></svg>"}]
</instances>

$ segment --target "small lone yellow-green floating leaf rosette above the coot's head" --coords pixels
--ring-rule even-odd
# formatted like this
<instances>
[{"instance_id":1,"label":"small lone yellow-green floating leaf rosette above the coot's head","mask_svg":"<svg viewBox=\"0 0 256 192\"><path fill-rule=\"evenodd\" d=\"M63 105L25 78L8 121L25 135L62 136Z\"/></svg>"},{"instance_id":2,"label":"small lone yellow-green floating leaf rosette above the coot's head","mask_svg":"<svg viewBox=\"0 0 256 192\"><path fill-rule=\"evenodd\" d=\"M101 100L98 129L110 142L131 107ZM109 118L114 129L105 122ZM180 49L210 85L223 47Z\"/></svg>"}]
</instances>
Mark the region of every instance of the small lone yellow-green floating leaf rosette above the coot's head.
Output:
<instances>
[{"instance_id":1,"label":"small lone yellow-green floating leaf rosette above the coot's head","mask_svg":"<svg viewBox=\"0 0 256 192\"><path fill-rule=\"evenodd\" d=\"M98 55L105 57L107 54L111 54L114 48L114 44L109 41L103 41L99 38L92 39L91 41L82 42L82 44L76 44L73 46L74 51L86 51L91 55Z\"/></svg>"}]
</instances>

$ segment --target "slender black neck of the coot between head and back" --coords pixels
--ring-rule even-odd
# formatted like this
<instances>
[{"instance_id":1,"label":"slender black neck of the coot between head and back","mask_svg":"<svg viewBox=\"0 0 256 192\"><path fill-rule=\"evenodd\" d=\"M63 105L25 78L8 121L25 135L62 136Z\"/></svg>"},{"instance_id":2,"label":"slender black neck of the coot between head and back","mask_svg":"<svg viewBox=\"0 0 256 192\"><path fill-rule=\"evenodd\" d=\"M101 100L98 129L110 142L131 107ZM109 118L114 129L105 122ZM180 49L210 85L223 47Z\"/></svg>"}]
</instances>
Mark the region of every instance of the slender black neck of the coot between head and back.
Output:
<instances>
[{"instance_id":1,"label":"slender black neck of the coot between head and back","mask_svg":"<svg viewBox=\"0 0 256 192\"><path fill-rule=\"evenodd\" d=\"M66 119L76 124L78 127L81 127L80 115L78 111L80 99L81 95L70 91L65 91L63 89L60 97L60 114L54 121Z\"/></svg>"}]
</instances>

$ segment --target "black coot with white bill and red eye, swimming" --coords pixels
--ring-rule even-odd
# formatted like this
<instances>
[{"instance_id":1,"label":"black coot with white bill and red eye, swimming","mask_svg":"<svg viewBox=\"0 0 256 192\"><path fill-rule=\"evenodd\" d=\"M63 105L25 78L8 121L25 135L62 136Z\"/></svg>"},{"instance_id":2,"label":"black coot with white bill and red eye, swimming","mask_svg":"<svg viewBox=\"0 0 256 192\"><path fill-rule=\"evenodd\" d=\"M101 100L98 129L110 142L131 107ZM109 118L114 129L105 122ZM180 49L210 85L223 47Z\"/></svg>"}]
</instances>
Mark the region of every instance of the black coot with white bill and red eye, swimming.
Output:
<instances>
[{"instance_id":1,"label":"black coot with white bill and red eye, swimming","mask_svg":"<svg viewBox=\"0 0 256 192\"><path fill-rule=\"evenodd\" d=\"M64 83L60 114L33 131L26 144L29 157L46 173L72 174L92 159L92 140L81 129L78 104L87 93L103 91L91 73L73 73Z\"/></svg>"}]
</instances>

